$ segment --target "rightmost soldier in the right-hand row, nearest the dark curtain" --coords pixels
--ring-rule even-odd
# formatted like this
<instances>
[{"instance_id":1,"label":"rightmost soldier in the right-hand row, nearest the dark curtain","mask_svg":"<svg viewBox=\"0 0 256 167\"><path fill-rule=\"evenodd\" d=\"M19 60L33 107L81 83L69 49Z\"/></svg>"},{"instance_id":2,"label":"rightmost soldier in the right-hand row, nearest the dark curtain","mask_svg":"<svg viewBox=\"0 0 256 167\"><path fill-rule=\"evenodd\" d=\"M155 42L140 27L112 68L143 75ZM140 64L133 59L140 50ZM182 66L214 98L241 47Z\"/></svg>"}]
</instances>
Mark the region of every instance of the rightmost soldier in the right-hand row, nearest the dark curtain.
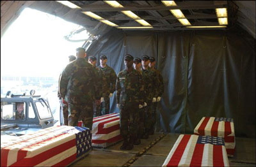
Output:
<instances>
[{"instance_id":1,"label":"rightmost soldier in the right-hand row, nearest the dark curtain","mask_svg":"<svg viewBox=\"0 0 256 167\"><path fill-rule=\"evenodd\" d=\"M159 102L161 100L161 96L163 95L163 92L164 92L164 81L163 81L163 76L161 75L160 71L158 71L156 68L155 68L155 65L156 65L156 59L154 57L150 57L150 63L149 63L149 67L152 71L156 71L156 76L157 76L157 100L156 100L156 103L153 103L153 117L154 117L154 122L153 124L151 125L150 127L150 132L149 134L154 134L154 126L156 125L156 117L157 117L157 114L156 114L156 109L157 109L157 102Z\"/></svg>"}]
</instances>

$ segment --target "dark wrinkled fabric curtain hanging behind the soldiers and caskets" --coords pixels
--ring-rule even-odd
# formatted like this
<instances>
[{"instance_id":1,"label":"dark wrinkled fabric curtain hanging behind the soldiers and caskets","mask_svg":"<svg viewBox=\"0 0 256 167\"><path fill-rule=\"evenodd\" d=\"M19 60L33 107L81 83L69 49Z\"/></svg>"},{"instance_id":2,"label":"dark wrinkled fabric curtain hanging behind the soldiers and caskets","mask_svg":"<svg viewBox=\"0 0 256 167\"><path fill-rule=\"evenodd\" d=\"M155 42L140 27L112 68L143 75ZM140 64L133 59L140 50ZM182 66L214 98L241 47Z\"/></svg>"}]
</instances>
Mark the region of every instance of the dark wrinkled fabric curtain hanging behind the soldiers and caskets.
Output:
<instances>
[{"instance_id":1,"label":"dark wrinkled fabric curtain hanging behind the soldiers and caskets","mask_svg":"<svg viewBox=\"0 0 256 167\"><path fill-rule=\"evenodd\" d=\"M107 55L116 74L125 68L125 54L156 58L164 78L158 131L193 133L202 117L230 117L236 136L255 138L253 45L234 31L115 30L95 41L88 53L97 56L98 64L99 56ZM115 96L111 112L119 112Z\"/></svg>"}]
</instances>

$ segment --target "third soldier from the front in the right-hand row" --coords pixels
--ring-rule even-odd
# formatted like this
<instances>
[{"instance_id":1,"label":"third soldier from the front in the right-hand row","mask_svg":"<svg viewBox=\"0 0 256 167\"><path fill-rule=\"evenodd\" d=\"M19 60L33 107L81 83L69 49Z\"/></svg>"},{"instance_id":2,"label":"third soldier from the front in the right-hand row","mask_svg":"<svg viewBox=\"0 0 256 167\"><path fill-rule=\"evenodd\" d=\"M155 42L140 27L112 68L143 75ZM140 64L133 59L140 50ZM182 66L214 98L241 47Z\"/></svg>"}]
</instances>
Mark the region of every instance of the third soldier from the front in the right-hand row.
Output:
<instances>
[{"instance_id":1,"label":"third soldier from the front in the right-hand row","mask_svg":"<svg viewBox=\"0 0 256 167\"><path fill-rule=\"evenodd\" d=\"M157 85L156 85L156 72L150 70L148 67L149 57L147 55L142 56L142 75L145 82L145 90L147 96L147 106L145 107L145 133L143 135L144 139L148 138L148 134L152 131L151 126L154 122L152 105L156 102L157 96ZM153 129L154 130L154 129Z\"/></svg>"}]
</instances>

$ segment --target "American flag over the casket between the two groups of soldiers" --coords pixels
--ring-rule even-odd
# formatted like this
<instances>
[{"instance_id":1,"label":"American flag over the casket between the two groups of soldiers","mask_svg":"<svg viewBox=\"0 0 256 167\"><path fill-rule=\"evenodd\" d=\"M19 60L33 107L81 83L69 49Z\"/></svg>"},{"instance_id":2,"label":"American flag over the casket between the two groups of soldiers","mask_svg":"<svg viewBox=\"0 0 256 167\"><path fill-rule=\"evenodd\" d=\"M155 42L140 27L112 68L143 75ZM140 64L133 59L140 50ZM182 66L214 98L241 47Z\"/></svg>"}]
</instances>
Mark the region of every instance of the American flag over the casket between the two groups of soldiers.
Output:
<instances>
[{"instance_id":1,"label":"American flag over the casket between the two groups of soldiers","mask_svg":"<svg viewBox=\"0 0 256 167\"><path fill-rule=\"evenodd\" d=\"M114 143L122 139L119 113L93 118L92 145Z\"/></svg>"}]
</instances>

